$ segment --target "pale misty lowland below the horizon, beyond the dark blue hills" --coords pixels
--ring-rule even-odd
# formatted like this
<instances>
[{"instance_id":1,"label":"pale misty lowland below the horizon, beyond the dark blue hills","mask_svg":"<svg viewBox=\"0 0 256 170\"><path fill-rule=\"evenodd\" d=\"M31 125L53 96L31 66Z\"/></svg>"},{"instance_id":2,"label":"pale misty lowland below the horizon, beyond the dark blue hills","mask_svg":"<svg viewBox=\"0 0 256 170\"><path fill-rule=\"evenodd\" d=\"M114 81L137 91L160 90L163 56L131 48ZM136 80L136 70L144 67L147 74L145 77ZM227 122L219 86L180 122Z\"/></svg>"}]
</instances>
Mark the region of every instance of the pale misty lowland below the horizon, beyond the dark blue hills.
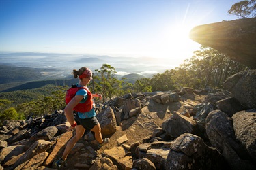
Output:
<instances>
[{"instance_id":1,"label":"pale misty lowland below the horizon, beyond the dark blue hills","mask_svg":"<svg viewBox=\"0 0 256 170\"><path fill-rule=\"evenodd\" d=\"M61 71L61 76L70 74L72 69L89 67L91 70L100 69L102 64L115 67L117 74L139 73L163 73L167 69L173 69L167 58L150 57L112 57L106 55L91 54L55 54L38 52L1 53L2 65L14 65L17 67L55 68ZM148 75L145 75L148 76Z\"/></svg>"}]
</instances>

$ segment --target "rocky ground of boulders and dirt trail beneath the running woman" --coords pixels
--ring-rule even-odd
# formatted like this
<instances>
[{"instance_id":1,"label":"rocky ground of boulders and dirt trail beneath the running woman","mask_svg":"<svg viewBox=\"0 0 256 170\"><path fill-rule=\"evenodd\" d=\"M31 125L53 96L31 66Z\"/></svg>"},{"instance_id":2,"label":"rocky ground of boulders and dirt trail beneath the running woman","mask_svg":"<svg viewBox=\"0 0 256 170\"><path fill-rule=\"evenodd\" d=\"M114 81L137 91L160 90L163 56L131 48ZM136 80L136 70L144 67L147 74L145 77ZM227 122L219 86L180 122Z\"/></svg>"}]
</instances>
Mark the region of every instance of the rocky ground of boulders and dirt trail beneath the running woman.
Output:
<instances>
[{"instance_id":1,"label":"rocky ground of boulders and dirt trail beneath the running woman","mask_svg":"<svg viewBox=\"0 0 256 170\"><path fill-rule=\"evenodd\" d=\"M232 107L230 95L182 88L116 97L97 114L102 135L111 143L98 149L94 134L85 131L66 169L255 169L255 111L216 110L225 108L223 100ZM1 166L51 168L76 133L66 131L67 126L63 111L5 121Z\"/></svg>"}]
</instances>

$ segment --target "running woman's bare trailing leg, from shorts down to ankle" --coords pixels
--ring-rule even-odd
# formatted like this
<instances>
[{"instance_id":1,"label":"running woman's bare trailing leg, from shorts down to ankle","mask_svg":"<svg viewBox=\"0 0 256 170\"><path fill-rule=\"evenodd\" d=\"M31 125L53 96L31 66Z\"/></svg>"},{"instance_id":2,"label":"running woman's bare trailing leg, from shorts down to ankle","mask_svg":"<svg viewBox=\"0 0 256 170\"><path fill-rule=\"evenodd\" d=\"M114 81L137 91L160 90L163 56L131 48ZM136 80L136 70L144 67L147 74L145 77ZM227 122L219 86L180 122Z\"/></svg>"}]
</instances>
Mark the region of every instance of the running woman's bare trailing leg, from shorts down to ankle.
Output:
<instances>
[{"instance_id":1,"label":"running woman's bare trailing leg, from shorts down to ankle","mask_svg":"<svg viewBox=\"0 0 256 170\"><path fill-rule=\"evenodd\" d=\"M62 155L62 160L66 160L68 154L70 153L70 151L72 150L72 148L74 147L74 145L76 144L77 141L79 141L79 139L81 139L81 137L83 136L83 133L85 133L85 129L83 128L82 125L77 125L76 126L76 135L74 135L74 137L72 137L70 139L70 141L68 141L68 144L63 152Z\"/></svg>"}]
</instances>

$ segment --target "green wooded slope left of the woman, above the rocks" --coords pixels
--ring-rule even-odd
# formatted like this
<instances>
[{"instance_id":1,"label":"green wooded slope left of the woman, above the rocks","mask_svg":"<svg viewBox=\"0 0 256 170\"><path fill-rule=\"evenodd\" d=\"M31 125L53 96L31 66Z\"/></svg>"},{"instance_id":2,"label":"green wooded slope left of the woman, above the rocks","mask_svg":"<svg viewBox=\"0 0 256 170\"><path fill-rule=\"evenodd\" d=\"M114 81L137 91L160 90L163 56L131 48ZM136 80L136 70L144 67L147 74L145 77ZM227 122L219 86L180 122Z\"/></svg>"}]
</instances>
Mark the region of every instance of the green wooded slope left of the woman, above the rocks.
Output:
<instances>
[{"instance_id":1,"label":"green wooded slope left of the woman, above the rocks","mask_svg":"<svg viewBox=\"0 0 256 170\"><path fill-rule=\"evenodd\" d=\"M68 86L47 85L33 90L20 90L16 92L3 92L0 97L0 113L3 117L13 118L15 116L5 116L10 108L15 108L18 118L24 119L30 114L43 116L51 114L56 109L63 109L66 105L65 95ZM14 100L14 102L10 101ZM12 111L12 110L11 110Z\"/></svg>"}]
</instances>

